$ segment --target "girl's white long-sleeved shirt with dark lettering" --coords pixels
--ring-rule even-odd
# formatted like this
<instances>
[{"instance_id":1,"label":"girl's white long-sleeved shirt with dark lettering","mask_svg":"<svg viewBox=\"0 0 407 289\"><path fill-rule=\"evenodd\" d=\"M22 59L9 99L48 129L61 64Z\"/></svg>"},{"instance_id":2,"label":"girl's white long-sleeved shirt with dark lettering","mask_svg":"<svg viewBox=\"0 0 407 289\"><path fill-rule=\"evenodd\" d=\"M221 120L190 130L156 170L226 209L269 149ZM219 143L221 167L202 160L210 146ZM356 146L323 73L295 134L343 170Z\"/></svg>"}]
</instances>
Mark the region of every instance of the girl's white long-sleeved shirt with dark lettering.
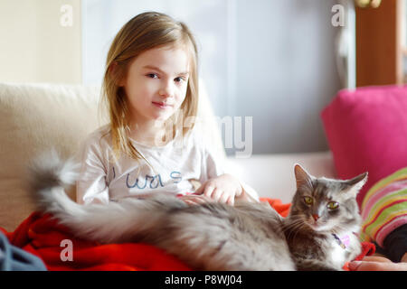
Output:
<instances>
[{"instance_id":1,"label":"girl's white long-sleeved shirt with dark lettering","mask_svg":"<svg viewBox=\"0 0 407 289\"><path fill-rule=\"evenodd\" d=\"M80 152L80 177L77 202L108 203L127 197L147 197L154 192L175 195L194 192L189 180L201 183L223 172L222 161L199 142L194 130L175 137L163 146L150 147L131 140L144 160L138 162L126 154L114 159L109 125L91 133ZM250 193L257 199L257 194Z\"/></svg>"}]
</instances>

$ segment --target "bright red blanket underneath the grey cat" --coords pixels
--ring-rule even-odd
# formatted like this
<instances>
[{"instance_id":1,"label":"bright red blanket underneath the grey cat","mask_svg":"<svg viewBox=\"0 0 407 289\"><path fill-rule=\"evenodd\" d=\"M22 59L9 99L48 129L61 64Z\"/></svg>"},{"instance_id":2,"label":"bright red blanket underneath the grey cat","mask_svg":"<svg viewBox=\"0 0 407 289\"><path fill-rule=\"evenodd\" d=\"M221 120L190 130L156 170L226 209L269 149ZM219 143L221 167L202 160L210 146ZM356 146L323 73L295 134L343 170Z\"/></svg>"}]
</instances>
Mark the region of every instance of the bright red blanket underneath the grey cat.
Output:
<instances>
[{"instance_id":1,"label":"bright red blanket underneath the grey cat","mask_svg":"<svg viewBox=\"0 0 407 289\"><path fill-rule=\"evenodd\" d=\"M280 200L270 200L270 205L283 217L289 213L290 204ZM57 223L51 215L33 212L14 232L0 228L10 243L43 259L48 270L190 270L175 256L147 244L126 243L101 245L75 238L70 230ZM69 240L70 243L62 242ZM72 258L67 251L72 247ZM357 259L374 253L374 245L363 243L364 252ZM68 260L67 260L68 258ZM65 259L66 261L62 261ZM345 267L346 269L346 267Z\"/></svg>"}]
</instances>

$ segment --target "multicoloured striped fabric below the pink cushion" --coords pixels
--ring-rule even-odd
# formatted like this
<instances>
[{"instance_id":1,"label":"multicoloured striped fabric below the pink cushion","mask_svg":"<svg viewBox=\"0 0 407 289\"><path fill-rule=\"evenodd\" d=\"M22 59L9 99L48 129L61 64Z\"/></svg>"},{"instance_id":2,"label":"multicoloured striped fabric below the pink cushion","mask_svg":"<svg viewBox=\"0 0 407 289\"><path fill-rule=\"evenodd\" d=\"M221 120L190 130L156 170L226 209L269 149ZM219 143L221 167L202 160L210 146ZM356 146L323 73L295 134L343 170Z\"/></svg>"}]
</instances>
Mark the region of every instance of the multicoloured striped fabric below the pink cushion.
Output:
<instances>
[{"instance_id":1,"label":"multicoloured striped fabric below the pink cushion","mask_svg":"<svg viewBox=\"0 0 407 289\"><path fill-rule=\"evenodd\" d=\"M361 206L360 238L383 247L386 236L407 223L407 168L394 172L367 191Z\"/></svg>"}]
</instances>

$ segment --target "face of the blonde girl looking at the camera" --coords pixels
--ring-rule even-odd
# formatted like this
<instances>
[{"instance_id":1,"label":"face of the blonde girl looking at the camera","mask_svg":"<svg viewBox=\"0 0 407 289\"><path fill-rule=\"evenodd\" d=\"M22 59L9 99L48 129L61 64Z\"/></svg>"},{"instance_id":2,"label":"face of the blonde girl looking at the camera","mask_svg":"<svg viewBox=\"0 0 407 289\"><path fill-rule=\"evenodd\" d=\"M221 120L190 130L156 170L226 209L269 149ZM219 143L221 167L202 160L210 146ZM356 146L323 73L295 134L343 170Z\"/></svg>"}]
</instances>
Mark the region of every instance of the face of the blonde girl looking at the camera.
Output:
<instances>
[{"instance_id":1,"label":"face of the blonde girl looking at the camera","mask_svg":"<svg viewBox=\"0 0 407 289\"><path fill-rule=\"evenodd\" d=\"M189 58L185 49L163 46L144 51L130 62L121 85L133 124L166 121L185 99Z\"/></svg>"}]
</instances>

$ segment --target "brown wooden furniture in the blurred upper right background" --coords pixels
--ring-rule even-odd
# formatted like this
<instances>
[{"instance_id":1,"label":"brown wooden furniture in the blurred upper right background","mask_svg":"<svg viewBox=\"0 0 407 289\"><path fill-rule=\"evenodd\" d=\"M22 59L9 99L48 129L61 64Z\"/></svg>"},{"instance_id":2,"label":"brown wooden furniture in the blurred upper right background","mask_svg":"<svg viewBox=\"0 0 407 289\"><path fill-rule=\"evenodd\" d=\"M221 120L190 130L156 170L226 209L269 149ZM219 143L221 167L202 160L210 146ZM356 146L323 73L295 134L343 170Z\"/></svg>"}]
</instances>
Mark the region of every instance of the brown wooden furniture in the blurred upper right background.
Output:
<instances>
[{"instance_id":1,"label":"brown wooden furniture in the blurred upper right background","mask_svg":"<svg viewBox=\"0 0 407 289\"><path fill-rule=\"evenodd\" d=\"M355 7L356 87L404 83L404 0Z\"/></svg>"}]
</instances>

